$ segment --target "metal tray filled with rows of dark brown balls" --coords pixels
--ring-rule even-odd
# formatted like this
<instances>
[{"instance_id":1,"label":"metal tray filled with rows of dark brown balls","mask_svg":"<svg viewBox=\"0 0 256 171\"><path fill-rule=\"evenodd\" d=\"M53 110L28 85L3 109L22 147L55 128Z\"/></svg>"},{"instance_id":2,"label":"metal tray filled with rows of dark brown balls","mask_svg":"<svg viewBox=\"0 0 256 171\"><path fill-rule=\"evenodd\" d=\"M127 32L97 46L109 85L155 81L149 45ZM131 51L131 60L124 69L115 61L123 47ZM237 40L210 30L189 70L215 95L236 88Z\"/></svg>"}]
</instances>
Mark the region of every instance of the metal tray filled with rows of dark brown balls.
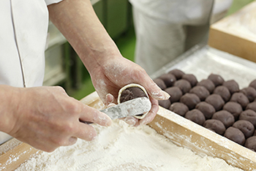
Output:
<instances>
[{"instance_id":1,"label":"metal tray filled with rows of dark brown balls","mask_svg":"<svg viewBox=\"0 0 256 171\"><path fill-rule=\"evenodd\" d=\"M196 45L151 77L171 96L159 106L255 153L254 62Z\"/></svg>"}]
</instances>

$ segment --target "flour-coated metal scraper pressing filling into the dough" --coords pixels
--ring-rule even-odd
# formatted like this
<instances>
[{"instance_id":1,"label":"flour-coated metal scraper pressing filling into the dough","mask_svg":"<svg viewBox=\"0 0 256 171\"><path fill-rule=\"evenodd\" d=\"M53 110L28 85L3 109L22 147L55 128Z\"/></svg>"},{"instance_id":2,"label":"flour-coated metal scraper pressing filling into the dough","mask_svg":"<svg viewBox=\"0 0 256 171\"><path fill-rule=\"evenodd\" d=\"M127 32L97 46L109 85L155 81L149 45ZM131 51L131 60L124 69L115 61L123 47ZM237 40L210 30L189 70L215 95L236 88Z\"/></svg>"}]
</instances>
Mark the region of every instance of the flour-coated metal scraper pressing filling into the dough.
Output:
<instances>
[{"instance_id":1,"label":"flour-coated metal scraper pressing filling into the dough","mask_svg":"<svg viewBox=\"0 0 256 171\"><path fill-rule=\"evenodd\" d=\"M100 110L102 113L106 113L111 119L125 118L129 115L140 115L151 110L151 102L147 97L139 97L136 99L116 104L112 107L108 107L104 110ZM91 122L84 122L91 123Z\"/></svg>"}]
</instances>

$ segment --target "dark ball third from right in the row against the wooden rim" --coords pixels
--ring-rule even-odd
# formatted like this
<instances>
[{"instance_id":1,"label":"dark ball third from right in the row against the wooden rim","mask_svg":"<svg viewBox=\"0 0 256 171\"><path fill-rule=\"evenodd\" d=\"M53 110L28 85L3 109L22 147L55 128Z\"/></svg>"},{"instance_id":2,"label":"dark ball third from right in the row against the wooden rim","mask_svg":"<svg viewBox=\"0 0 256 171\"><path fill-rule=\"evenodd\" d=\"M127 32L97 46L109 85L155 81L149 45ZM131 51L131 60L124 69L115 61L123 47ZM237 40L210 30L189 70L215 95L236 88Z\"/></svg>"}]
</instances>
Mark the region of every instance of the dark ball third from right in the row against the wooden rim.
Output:
<instances>
[{"instance_id":1,"label":"dark ball third from right in the row against the wooden rim","mask_svg":"<svg viewBox=\"0 0 256 171\"><path fill-rule=\"evenodd\" d=\"M208 119L203 123L203 126L221 135L226 131L225 125L217 119Z\"/></svg>"}]
</instances>

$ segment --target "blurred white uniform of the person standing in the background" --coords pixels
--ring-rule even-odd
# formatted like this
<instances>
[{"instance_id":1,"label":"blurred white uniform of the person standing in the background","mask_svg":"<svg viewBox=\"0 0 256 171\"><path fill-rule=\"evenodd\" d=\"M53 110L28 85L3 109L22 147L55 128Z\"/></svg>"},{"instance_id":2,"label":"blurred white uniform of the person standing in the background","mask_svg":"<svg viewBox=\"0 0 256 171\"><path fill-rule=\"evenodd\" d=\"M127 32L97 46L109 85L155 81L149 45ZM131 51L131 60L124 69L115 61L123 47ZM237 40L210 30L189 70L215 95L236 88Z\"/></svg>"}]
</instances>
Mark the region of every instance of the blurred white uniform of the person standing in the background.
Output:
<instances>
[{"instance_id":1,"label":"blurred white uniform of the person standing in the background","mask_svg":"<svg viewBox=\"0 0 256 171\"><path fill-rule=\"evenodd\" d=\"M206 39L213 0L129 0L132 4L135 62L148 75ZM233 0L215 0L211 22L223 18Z\"/></svg>"}]
</instances>

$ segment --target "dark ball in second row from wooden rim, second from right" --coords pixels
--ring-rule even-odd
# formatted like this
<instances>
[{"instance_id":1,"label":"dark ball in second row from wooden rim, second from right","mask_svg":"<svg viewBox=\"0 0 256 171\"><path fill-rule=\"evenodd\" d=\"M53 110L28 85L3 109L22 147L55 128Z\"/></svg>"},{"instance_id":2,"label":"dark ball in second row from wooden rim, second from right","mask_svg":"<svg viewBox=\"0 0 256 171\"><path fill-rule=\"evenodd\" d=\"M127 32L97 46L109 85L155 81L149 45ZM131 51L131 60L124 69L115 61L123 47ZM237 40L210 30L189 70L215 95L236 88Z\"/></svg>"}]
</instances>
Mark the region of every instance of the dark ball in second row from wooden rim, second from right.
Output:
<instances>
[{"instance_id":1,"label":"dark ball in second row from wooden rim, second from right","mask_svg":"<svg viewBox=\"0 0 256 171\"><path fill-rule=\"evenodd\" d=\"M212 119L222 121L226 128L232 126L235 122L234 116L231 113L227 112L227 110L220 110L219 112L214 113L214 115L212 115Z\"/></svg>"}]
</instances>

